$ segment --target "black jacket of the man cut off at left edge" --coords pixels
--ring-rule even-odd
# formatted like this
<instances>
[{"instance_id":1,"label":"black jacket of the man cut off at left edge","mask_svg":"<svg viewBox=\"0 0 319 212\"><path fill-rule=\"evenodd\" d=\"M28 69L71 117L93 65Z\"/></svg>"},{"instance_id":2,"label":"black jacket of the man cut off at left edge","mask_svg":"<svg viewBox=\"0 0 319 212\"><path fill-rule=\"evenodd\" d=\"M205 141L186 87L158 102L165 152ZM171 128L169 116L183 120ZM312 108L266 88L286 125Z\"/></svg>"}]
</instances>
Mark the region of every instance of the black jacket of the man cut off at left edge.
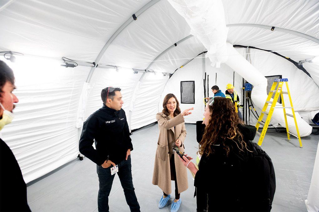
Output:
<instances>
[{"instance_id":1,"label":"black jacket of the man cut off at left edge","mask_svg":"<svg viewBox=\"0 0 319 212\"><path fill-rule=\"evenodd\" d=\"M9 146L0 142L0 211L31 211L20 166Z\"/></svg>"}]
</instances>

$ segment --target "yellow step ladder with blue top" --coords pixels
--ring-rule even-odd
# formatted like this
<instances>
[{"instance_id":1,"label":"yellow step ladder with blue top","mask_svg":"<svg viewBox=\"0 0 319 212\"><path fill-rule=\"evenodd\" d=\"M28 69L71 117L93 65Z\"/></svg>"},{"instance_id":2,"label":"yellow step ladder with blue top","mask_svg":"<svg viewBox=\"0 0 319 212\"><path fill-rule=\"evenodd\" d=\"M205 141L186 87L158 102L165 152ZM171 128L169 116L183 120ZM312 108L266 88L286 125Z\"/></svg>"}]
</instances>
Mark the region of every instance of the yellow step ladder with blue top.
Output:
<instances>
[{"instance_id":1,"label":"yellow step ladder with blue top","mask_svg":"<svg viewBox=\"0 0 319 212\"><path fill-rule=\"evenodd\" d=\"M284 85L284 82L286 83L287 92L282 91L282 87ZM277 87L277 85L278 85L278 87ZM271 101L271 97L272 97L272 95L274 93L275 93L275 96L273 98L273 101ZM288 95L291 107L285 107L283 94L287 94ZM282 107L276 107L276 103L277 103L277 100L279 98L279 95L281 96ZM268 106L270 106L270 109L267 112ZM285 123L286 123L286 131L287 131L288 140L290 140L290 134L295 136L295 137L297 137L298 140L299 140L300 148L302 148L302 143L301 143L299 129L298 129L297 121L296 121L295 111L293 110L293 102L291 101L291 96L290 96L290 92L289 92L289 88L288 88L288 79L287 78L275 79L274 82L272 83L272 86L271 86L270 92L268 94L267 100L266 100L266 102L265 102L265 104L263 106L263 110L262 110L262 112L261 112L261 114L260 114L260 116L258 118L257 124L256 124L256 128L257 128L257 133L256 134L258 134L260 136L260 138L258 140L258 145L261 146L262 143L263 143L263 138L265 137L265 134L267 132L267 128L268 128L269 123L270 123L270 119L271 119L272 113L274 112L275 108L283 108L284 109L284 116L285 116ZM286 113L286 108L291 109L293 114ZM263 120L263 116L265 114L267 115L267 118L266 118L265 123L263 123L262 120ZM295 121L295 125L296 125L297 135L294 135L291 132L289 132L288 124L287 124L287 116L293 117L293 119ZM258 132L258 128L259 128L260 124L263 125L263 131L261 133Z\"/></svg>"}]
</instances>

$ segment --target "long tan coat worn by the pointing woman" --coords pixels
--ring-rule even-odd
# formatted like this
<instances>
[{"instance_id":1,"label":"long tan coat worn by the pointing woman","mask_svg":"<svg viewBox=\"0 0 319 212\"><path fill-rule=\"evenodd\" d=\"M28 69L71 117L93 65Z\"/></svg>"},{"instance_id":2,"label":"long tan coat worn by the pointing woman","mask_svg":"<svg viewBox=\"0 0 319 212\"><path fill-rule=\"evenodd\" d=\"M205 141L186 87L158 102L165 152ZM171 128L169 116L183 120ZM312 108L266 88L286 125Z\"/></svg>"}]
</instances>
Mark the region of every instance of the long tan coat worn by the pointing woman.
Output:
<instances>
[{"instance_id":1,"label":"long tan coat worn by the pointing woman","mask_svg":"<svg viewBox=\"0 0 319 212\"><path fill-rule=\"evenodd\" d=\"M168 144L171 142L175 143L177 139L180 139L182 144L184 144L186 137L184 118L181 114L171 118L163 113L158 113L156 114L156 119L159 125L159 139L157 142L152 184L158 185L164 193L171 194L171 169ZM178 149L184 152L184 145L178 147ZM188 180L186 167L182 164L179 157L175 152L174 162L178 193L182 193L188 188Z\"/></svg>"}]
</instances>

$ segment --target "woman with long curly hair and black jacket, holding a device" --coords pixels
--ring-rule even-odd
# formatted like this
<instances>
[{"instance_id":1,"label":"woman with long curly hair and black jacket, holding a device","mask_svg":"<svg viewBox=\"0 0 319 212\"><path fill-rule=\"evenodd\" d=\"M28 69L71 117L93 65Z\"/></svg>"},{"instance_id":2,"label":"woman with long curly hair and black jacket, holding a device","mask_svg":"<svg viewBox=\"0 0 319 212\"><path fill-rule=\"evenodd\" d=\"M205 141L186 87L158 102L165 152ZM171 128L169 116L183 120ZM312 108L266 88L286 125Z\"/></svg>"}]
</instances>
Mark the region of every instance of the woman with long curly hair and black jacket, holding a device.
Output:
<instances>
[{"instance_id":1,"label":"woman with long curly hair and black jacket, holding a device","mask_svg":"<svg viewBox=\"0 0 319 212\"><path fill-rule=\"evenodd\" d=\"M204 117L199 169L191 157L181 158L195 174L197 211L270 211L271 203L260 195L263 179L258 178L252 161L254 144L250 140L256 128L244 125L232 102L222 97L207 103Z\"/></svg>"}]
</instances>

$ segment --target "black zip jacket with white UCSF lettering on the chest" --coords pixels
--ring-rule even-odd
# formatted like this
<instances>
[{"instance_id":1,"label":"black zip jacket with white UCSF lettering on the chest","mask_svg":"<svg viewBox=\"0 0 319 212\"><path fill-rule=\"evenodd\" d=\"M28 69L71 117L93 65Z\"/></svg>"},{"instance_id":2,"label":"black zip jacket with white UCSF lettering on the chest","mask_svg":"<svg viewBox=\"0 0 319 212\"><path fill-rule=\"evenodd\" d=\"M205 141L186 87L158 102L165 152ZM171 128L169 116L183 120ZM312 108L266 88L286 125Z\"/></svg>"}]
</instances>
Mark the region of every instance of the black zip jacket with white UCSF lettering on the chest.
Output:
<instances>
[{"instance_id":1,"label":"black zip jacket with white UCSF lettering on the chest","mask_svg":"<svg viewBox=\"0 0 319 212\"><path fill-rule=\"evenodd\" d=\"M96 149L92 146L94 140ZM106 159L120 163L128 149L133 150L133 146L123 109L114 110L103 104L84 122L79 150L97 165Z\"/></svg>"}]
</instances>

